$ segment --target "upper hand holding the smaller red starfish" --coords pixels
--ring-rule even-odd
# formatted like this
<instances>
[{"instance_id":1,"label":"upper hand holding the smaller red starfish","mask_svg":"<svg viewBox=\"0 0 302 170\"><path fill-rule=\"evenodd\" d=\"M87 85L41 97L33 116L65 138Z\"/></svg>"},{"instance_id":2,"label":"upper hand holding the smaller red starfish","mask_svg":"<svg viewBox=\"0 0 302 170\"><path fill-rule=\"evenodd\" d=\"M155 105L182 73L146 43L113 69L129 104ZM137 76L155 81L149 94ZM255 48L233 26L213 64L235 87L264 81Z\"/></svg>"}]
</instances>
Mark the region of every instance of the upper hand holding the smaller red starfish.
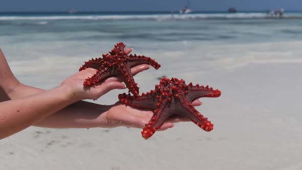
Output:
<instances>
[{"instance_id":1,"label":"upper hand holding the smaller red starfish","mask_svg":"<svg viewBox=\"0 0 302 170\"><path fill-rule=\"evenodd\" d=\"M125 49L125 52L127 54L131 53L131 51L132 49L130 48ZM137 73L147 70L149 68L149 65L139 65L133 67L131 69L131 72L133 75L136 75ZM104 81L95 84L93 87L84 87L83 82L85 81L85 78L92 77L96 72L96 69L87 68L64 80L60 86L67 89L70 98L74 101L83 99L96 100L113 89L126 88L124 84L121 83L122 80L117 77L109 77Z\"/></svg>"}]
</instances>

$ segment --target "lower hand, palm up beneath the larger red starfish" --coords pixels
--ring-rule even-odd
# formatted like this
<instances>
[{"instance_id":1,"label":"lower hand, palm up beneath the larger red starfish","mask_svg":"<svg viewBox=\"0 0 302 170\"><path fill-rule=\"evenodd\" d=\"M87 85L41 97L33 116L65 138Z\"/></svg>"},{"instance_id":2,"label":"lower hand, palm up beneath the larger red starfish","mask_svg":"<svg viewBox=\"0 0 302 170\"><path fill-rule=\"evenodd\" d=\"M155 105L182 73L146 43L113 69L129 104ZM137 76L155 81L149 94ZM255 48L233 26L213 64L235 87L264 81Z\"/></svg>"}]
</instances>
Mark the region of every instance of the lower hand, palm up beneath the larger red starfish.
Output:
<instances>
[{"instance_id":1,"label":"lower hand, palm up beneath the larger red starfish","mask_svg":"<svg viewBox=\"0 0 302 170\"><path fill-rule=\"evenodd\" d=\"M196 99L192 102L193 106L199 106L202 102ZM106 128L115 128L118 126L126 126L129 128L143 128L146 123L152 118L154 112L149 109L134 108L121 102L117 102L113 107L105 113ZM174 127L174 123L189 121L180 116L168 118L158 131L164 131Z\"/></svg>"}]
</instances>

